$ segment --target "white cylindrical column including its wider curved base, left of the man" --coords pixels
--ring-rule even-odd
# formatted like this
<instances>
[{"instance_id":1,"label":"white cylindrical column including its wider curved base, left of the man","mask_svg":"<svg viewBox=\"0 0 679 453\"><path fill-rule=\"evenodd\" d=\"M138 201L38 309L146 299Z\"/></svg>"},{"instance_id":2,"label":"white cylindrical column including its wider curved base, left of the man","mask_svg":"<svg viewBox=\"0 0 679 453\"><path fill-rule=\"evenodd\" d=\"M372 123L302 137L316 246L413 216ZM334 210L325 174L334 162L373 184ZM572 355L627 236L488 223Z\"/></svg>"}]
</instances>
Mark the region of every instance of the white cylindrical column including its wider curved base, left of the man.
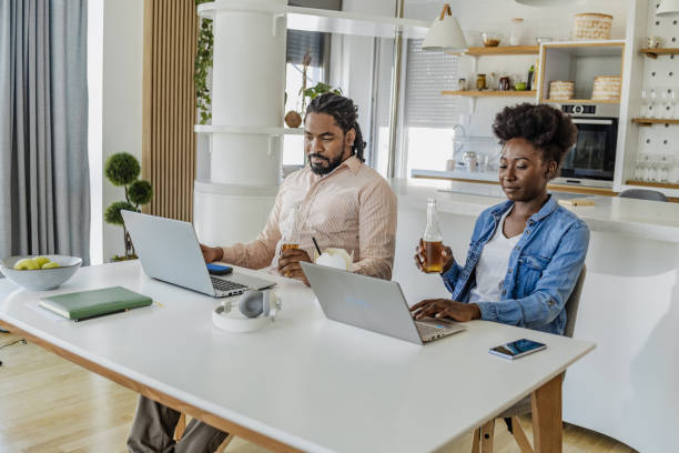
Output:
<instances>
[{"instance_id":1,"label":"white cylindrical column including its wider curved base, left of the man","mask_svg":"<svg viewBox=\"0 0 679 453\"><path fill-rule=\"evenodd\" d=\"M286 4L257 0L254 7ZM285 18L274 12L215 11L212 124L281 128L285 95ZM194 223L202 242L253 239L281 178L278 135L213 133L210 181L196 181Z\"/></svg>"}]
</instances>

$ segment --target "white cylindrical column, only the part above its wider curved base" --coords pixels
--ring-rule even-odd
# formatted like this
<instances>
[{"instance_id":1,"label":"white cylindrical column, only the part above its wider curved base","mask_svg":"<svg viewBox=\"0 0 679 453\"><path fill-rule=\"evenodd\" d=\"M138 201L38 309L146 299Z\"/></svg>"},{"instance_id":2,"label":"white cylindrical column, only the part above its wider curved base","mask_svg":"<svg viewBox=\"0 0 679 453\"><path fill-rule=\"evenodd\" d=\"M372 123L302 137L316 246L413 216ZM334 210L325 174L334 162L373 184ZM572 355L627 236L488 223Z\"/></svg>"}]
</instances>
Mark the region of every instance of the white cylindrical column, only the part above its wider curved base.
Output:
<instances>
[{"instance_id":1,"label":"white cylindrical column, only the part above its wider curved base","mask_svg":"<svg viewBox=\"0 0 679 453\"><path fill-rule=\"evenodd\" d=\"M285 0L257 3L286 4ZM216 12L213 22L213 124L283 125L285 30L285 19L274 19L271 12ZM267 135L219 133L212 140L213 182L277 185L280 138L272 139L271 153Z\"/></svg>"}]
</instances>

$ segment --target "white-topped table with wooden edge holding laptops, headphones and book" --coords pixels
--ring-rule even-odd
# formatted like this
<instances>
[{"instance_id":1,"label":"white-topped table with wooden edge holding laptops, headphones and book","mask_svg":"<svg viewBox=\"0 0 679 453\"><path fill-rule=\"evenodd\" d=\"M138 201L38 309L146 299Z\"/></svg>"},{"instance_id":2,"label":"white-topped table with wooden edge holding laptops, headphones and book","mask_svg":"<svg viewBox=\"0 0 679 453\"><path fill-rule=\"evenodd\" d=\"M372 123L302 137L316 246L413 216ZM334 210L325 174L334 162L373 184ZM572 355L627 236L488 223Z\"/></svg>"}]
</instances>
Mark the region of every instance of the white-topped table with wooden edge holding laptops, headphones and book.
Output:
<instances>
[{"instance_id":1,"label":"white-topped table with wooden edge holding laptops, headphones and book","mask_svg":"<svg viewBox=\"0 0 679 453\"><path fill-rule=\"evenodd\" d=\"M274 450L432 451L535 391L536 451L560 451L561 373L594 343L475 321L417 346L328 321L302 283L267 276L280 283L283 312L251 334L214 329L216 300L152 280L138 262L83 268L50 292L3 279L0 325ZM81 323L50 320L34 306L45 294L115 284L162 306ZM516 362L487 352L520 338L548 349Z\"/></svg>"}]
</instances>

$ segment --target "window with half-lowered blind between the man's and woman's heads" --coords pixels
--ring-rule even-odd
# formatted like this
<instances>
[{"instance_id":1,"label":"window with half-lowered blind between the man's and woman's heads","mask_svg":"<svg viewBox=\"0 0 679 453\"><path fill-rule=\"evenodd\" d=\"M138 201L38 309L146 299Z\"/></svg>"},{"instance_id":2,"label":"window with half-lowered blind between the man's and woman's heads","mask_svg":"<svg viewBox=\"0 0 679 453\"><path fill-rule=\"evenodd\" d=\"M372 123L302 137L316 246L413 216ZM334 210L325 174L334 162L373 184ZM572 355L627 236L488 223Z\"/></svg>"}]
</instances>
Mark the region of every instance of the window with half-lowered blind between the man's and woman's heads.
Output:
<instances>
[{"instance_id":1,"label":"window with half-lowered blind between the man's and woman's heads","mask_svg":"<svg viewBox=\"0 0 679 453\"><path fill-rule=\"evenodd\" d=\"M413 169L445 170L463 105L440 92L456 87L457 57L423 51L422 40L408 40L403 159L408 178Z\"/></svg>"}]
</instances>

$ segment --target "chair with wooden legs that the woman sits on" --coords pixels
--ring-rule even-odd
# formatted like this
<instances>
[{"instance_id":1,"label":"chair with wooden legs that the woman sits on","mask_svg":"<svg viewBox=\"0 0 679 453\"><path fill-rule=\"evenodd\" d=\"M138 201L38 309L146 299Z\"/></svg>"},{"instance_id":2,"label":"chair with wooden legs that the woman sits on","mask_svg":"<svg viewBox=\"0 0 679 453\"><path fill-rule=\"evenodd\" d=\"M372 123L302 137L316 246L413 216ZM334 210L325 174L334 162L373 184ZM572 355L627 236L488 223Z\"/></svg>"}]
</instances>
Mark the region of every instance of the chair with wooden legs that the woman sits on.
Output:
<instances>
[{"instance_id":1,"label":"chair with wooden legs that the woman sits on","mask_svg":"<svg viewBox=\"0 0 679 453\"><path fill-rule=\"evenodd\" d=\"M578 306L580 305L580 294L582 293L582 284L585 283L585 275L587 274L587 268L582 265L578 281L566 301L566 326L564 328L564 336L572 338L575 331L575 323L578 318ZM493 433L495 431L495 420L504 419L507 423L507 430L514 436L514 440L518 444L521 453L533 453L533 446L526 436L526 432L521 427L518 416L527 415L533 411L531 407L531 395L526 396L501 414L495 416L488 421L482 427L474 432L474 440L472 442L472 453L493 453Z\"/></svg>"}]
</instances>

